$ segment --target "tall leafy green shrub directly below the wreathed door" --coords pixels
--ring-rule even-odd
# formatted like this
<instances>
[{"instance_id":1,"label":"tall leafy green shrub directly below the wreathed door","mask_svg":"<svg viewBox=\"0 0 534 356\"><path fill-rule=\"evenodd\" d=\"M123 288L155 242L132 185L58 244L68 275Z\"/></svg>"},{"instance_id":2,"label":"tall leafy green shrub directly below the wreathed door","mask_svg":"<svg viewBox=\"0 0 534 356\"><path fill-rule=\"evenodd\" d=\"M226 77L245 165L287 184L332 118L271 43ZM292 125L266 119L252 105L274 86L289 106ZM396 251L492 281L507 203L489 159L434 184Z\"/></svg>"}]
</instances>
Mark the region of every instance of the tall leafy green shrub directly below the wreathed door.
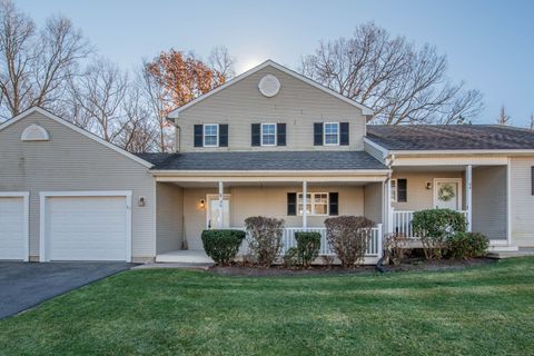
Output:
<instances>
[{"instance_id":1,"label":"tall leafy green shrub directly below the wreathed door","mask_svg":"<svg viewBox=\"0 0 534 356\"><path fill-rule=\"evenodd\" d=\"M444 257L447 241L457 233L465 233L465 217L451 209L428 209L414 212L412 227L421 237L426 259Z\"/></svg>"}]
</instances>

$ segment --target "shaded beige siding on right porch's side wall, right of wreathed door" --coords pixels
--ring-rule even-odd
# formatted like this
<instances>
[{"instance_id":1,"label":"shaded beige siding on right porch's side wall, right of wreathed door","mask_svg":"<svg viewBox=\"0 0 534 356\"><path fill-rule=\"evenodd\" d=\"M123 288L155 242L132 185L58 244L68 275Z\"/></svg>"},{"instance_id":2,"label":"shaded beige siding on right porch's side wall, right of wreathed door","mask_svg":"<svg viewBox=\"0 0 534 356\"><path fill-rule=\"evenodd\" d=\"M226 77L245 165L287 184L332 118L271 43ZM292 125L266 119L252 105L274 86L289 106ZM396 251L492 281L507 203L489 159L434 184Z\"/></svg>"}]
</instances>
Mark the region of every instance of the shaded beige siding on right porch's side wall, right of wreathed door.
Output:
<instances>
[{"instance_id":1,"label":"shaded beige siding on right porch's side wall, right of wreathed door","mask_svg":"<svg viewBox=\"0 0 534 356\"><path fill-rule=\"evenodd\" d=\"M473 168L473 231L506 239L506 167Z\"/></svg>"}]
</instances>

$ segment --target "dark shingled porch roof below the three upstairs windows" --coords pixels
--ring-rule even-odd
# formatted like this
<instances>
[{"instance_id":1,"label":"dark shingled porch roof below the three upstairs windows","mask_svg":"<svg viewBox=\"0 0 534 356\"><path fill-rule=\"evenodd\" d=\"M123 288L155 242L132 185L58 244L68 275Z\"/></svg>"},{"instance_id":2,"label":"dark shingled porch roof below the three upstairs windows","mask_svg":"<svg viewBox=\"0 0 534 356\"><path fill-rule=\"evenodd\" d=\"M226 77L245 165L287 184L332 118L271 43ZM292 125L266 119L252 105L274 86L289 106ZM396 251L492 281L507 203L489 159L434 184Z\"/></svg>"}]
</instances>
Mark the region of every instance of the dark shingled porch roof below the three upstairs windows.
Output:
<instances>
[{"instance_id":1,"label":"dark shingled porch roof below the three upstairs windows","mask_svg":"<svg viewBox=\"0 0 534 356\"><path fill-rule=\"evenodd\" d=\"M365 151L138 154L152 170L387 170Z\"/></svg>"}]
</instances>

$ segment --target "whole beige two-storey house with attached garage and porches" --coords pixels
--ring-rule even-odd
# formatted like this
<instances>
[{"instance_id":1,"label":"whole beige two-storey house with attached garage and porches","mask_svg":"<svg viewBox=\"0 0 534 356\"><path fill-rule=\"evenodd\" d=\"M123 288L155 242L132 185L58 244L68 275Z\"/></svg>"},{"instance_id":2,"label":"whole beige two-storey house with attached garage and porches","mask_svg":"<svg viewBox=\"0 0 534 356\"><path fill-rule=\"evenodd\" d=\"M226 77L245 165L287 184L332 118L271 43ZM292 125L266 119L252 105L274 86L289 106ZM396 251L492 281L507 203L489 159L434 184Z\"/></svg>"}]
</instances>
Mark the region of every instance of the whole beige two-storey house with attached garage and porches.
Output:
<instances>
[{"instance_id":1,"label":"whole beige two-storey house with attached garage and porches","mask_svg":"<svg viewBox=\"0 0 534 356\"><path fill-rule=\"evenodd\" d=\"M176 152L132 155L41 109L0 126L0 259L174 260L206 228L284 218L376 222L413 236L413 212L465 214L493 249L534 246L534 134L495 126L373 126L373 111L266 61L169 113Z\"/></svg>"}]
</instances>

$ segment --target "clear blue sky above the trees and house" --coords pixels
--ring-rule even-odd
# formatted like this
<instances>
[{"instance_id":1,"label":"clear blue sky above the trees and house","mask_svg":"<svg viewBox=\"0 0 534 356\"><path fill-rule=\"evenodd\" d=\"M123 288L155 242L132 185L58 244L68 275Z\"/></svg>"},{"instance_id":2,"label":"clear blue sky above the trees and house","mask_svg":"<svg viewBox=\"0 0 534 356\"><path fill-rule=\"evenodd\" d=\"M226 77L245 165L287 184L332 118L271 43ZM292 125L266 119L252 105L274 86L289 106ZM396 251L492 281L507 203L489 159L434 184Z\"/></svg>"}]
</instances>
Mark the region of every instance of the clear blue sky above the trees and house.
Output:
<instances>
[{"instance_id":1,"label":"clear blue sky above the trees and house","mask_svg":"<svg viewBox=\"0 0 534 356\"><path fill-rule=\"evenodd\" d=\"M228 48L238 73L266 59L297 69L320 40L374 21L447 55L449 78L484 95L474 123L494 123L503 105L515 126L534 112L532 0L14 1L39 24L69 17L99 55L128 69L170 48L207 59L215 46Z\"/></svg>"}]
</instances>

